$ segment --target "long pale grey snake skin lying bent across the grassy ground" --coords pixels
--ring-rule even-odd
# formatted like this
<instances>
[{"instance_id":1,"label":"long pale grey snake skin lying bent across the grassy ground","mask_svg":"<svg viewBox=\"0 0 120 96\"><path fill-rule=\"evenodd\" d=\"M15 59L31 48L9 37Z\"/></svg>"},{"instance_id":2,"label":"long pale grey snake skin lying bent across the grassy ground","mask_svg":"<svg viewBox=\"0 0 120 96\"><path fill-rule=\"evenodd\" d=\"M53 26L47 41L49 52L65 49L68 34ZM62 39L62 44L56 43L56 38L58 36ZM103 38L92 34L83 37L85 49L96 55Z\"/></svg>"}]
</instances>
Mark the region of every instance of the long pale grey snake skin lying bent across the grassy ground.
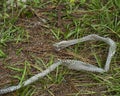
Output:
<instances>
[{"instance_id":1,"label":"long pale grey snake skin lying bent across the grassy ground","mask_svg":"<svg viewBox=\"0 0 120 96\"><path fill-rule=\"evenodd\" d=\"M37 81L38 79L46 76L48 73L54 71L54 69L56 67L58 67L59 65L63 65L63 66L68 67L69 69L74 69L74 70L78 70L78 71L85 70L85 71L99 72L99 73L107 72L109 70L111 59L116 51L116 44L110 38L104 38L104 37L100 37L98 35L92 34L92 35L88 35L88 36L85 36L80 39L61 41L59 43L53 44L53 46L59 51L70 45L74 45L76 43L89 41L89 40L104 41L105 43L107 43L110 46L104 69L94 66L92 64L88 64L88 63L79 61L79 60L69 60L69 59L68 60L58 60L56 63L53 63L51 66L49 66L46 70L32 76L28 80L24 81L22 84L18 84L16 86L11 86L8 88L0 89L0 94L6 94L9 92L13 92L15 90L20 89L21 87L27 86L27 85Z\"/></svg>"}]
</instances>

